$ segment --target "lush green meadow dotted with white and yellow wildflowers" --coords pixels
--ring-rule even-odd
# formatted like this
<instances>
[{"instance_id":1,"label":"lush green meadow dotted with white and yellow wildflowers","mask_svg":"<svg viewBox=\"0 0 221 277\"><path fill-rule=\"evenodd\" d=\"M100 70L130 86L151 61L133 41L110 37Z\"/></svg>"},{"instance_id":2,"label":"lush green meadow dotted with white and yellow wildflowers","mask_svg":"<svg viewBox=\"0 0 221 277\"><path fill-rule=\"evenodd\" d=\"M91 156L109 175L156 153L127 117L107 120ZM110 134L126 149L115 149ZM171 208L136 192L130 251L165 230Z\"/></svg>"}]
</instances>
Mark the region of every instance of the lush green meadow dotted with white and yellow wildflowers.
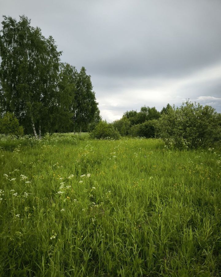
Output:
<instances>
[{"instance_id":1,"label":"lush green meadow dotted with white and yellow wildflowers","mask_svg":"<svg viewBox=\"0 0 221 277\"><path fill-rule=\"evenodd\" d=\"M83 134L0 146L0 276L221 276L219 150Z\"/></svg>"}]
</instances>

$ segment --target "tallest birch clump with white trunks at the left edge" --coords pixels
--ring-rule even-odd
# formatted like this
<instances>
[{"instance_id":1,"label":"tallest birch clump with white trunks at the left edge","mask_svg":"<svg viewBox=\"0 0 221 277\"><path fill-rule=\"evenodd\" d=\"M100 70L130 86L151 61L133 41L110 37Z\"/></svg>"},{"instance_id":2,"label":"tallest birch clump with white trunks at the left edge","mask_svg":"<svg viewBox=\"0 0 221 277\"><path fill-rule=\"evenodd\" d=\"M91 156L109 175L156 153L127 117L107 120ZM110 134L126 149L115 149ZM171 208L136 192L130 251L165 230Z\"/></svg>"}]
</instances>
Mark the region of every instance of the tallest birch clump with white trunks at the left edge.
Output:
<instances>
[{"instance_id":1,"label":"tallest birch clump with white trunks at the left edge","mask_svg":"<svg viewBox=\"0 0 221 277\"><path fill-rule=\"evenodd\" d=\"M57 98L61 52L54 39L45 38L30 20L3 16L0 32L0 94L2 111L13 112L29 133L41 139L49 129Z\"/></svg>"}]
</instances>

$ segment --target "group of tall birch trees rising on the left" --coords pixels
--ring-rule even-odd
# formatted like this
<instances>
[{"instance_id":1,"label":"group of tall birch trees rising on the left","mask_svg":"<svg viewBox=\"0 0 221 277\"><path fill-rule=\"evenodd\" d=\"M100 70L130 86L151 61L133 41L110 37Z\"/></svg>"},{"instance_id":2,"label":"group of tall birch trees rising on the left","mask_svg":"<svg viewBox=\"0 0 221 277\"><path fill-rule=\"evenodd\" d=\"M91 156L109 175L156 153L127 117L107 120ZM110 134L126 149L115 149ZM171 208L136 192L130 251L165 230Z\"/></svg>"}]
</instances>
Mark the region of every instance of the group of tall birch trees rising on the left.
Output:
<instances>
[{"instance_id":1,"label":"group of tall birch trees rising on the left","mask_svg":"<svg viewBox=\"0 0 221 277\"><path fill-rule=\"evenodd\" d=\"M63 63L52 36L26 16L3 16L0 32L0 114L12 113L25 134L87 131L99 121L91 76Z\"/></svg>"}]
</instances>

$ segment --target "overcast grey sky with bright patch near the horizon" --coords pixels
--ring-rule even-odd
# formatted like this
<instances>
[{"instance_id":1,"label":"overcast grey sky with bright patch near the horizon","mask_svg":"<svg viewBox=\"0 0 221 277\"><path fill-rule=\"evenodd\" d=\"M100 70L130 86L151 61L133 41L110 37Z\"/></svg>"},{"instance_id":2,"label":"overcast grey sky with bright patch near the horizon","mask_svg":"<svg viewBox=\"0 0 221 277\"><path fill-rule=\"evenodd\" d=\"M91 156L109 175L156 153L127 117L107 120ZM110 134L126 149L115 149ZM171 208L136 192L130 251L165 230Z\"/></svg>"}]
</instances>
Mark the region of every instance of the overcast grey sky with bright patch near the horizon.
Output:
<instances>
[{"instance_id":1,"label":"overcast grey sky with bright patch near the horizon","mask_svg":"<svg viewBox=\"0 0 221 277\"><path fill-rule=\"evenodd\" d=\"M108 122L186 99L221 112L220 0L0 0L0 14L25 14L84 66Z\"/></svg>"}]
</instances>

